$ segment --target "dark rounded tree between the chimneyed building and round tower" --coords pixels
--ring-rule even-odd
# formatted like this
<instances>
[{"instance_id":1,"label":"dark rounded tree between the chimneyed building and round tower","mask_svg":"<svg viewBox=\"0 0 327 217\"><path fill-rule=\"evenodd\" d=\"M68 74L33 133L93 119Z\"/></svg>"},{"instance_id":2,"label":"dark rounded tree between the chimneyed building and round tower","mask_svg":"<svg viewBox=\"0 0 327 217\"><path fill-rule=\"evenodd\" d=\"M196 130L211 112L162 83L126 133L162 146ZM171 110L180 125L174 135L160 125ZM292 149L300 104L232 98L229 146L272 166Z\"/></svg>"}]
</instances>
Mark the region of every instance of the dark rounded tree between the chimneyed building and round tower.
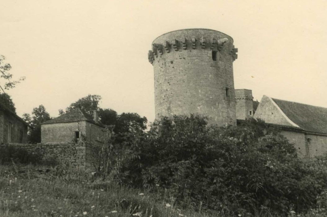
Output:
<instances>
[{"instance_id":1,"label":"dark rounded tree between the chimneyed building and round tower","mask_svg":"<svg viewBox=\"0 0 327 217\"><path fill-rule=\"evenodd\" d=\"M116 125L113 128L115 133L126 133L129 132L131 127L136 127L138 129L146 129L147 119L146 117L141 117L137 113L125 113L118 115Z\"/></svg>"}]
</instances>

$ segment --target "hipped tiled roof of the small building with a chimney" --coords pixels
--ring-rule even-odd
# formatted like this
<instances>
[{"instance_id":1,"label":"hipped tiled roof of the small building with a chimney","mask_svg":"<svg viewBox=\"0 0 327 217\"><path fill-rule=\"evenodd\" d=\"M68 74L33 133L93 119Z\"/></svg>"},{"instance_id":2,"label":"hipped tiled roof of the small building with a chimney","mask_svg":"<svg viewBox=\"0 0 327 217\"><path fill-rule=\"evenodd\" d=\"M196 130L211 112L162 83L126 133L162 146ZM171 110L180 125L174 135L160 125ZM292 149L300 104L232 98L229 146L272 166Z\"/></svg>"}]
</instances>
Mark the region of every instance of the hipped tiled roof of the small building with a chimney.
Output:
<instances>
[{"instance_id":1,"label":"hipped tiled roof of the small building with a chimney","mask_svg":"<svg viewBox=\"0 0 327 217\"><path fill-rule=\"evenodd\" d=\"M56 124L56 123L69 123L69 122L77 122L77 121L88 121L92 124L104 127L104 125L95 122L91 115L82 112L79 108L68 111L67 113L60 115L59 117L53 118L42 124Z\"/></svg>"}]
</instances>

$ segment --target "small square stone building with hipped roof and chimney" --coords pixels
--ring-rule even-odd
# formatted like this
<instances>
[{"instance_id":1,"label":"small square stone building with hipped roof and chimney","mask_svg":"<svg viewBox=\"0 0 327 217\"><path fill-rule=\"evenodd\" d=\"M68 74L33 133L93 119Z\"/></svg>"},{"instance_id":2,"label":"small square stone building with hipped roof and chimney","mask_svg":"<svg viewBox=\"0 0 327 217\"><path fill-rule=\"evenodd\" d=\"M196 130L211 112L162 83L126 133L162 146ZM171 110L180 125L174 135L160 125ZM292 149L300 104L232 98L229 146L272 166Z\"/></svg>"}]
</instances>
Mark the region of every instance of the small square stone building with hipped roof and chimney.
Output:
<instances>
[{"instance_id":1,"label":"small square stone building with hipped roof and chimney","mask_svg":"<svg viewBox=\"0 0 327 217\"><path fill-rule=\"evenodd\" d=\"M94 117L74 109L41 125L41 143L102 143L108 130Z\"/></svg>"}]
</instances>

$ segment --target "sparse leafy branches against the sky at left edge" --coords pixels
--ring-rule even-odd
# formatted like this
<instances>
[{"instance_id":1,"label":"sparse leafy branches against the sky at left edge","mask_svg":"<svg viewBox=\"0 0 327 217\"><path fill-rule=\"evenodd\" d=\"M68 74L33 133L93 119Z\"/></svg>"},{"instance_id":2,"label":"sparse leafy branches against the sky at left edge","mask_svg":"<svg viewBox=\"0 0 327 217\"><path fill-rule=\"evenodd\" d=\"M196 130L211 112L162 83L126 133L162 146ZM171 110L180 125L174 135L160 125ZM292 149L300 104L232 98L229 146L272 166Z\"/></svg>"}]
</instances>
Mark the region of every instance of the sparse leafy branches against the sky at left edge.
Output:
<instances>
[{"instance_id":1,"label":"sparse leafy branches against the sky at left edge","mask_svg":"<svg viewBox=\"0 0 327 217\"><path fill-rule=\"evenodd\" d=\"M0 77L6 80L3 85L0 85L2 92L5 92L4 89L9 90L14 88L16 84L25 80L25 77L20 77L18 80L11 80L12 74L8 72L11 69L11 65L9 63L4 63L5 59L4 56L0 55Z\"/></svg>"}]
</instances>

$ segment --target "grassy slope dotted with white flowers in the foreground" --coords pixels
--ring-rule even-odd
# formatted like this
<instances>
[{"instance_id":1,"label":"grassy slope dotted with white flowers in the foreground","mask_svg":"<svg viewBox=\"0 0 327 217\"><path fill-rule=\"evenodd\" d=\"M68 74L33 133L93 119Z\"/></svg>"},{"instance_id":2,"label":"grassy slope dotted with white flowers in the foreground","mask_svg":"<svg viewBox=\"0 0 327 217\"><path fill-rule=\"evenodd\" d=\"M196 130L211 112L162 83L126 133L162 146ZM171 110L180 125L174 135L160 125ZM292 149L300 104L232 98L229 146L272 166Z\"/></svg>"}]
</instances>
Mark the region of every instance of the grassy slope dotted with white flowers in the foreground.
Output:
<instances>
[{"instance_id":1,"label":"grassy slope dotted with white flowers in the foreground","mask_svg":"<svg viewBox=\"0 0 327 217\"><path fill-rule=\"evenodd\" d=\"M165 197L167 198L167 197ZM101 181L92 171L0 165L0 216L227 216L181 210L156 193ZM238 215L236 215L238 216ZM256 216L273 216L258 213ZM290 213L289 216L297 216ZM299 216L299 215L298 215ZM301 216L322 217L321 214Z\"/></svg>"}]
</instances>

